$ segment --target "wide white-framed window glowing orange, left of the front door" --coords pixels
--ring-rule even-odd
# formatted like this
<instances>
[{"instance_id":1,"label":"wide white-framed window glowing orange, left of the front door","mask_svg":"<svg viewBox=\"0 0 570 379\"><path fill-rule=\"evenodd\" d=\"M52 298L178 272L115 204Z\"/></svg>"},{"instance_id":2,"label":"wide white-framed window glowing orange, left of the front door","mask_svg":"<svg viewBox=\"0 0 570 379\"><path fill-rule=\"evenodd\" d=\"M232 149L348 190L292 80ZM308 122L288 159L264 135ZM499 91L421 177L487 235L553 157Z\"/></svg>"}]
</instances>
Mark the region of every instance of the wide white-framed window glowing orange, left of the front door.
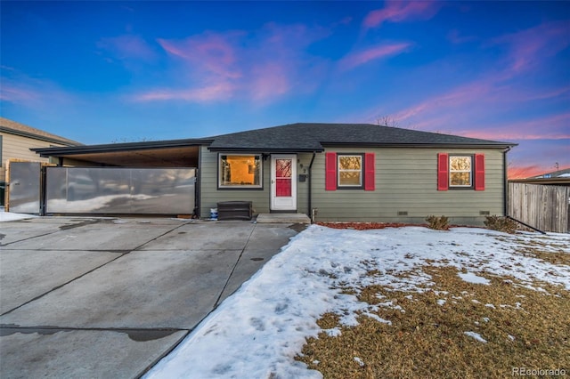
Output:
<instances>
[{"instance_id":1,"label":"wide white-framed window glowing orange, left of the front door","mask_svg":"<svg viewBox=\"0 0 570 379\"><path fill-rule=\"evenodd\" d=\"M218 188L261 189L262 157L260 154L220 154Z\"/></svg>"}]
</instances>

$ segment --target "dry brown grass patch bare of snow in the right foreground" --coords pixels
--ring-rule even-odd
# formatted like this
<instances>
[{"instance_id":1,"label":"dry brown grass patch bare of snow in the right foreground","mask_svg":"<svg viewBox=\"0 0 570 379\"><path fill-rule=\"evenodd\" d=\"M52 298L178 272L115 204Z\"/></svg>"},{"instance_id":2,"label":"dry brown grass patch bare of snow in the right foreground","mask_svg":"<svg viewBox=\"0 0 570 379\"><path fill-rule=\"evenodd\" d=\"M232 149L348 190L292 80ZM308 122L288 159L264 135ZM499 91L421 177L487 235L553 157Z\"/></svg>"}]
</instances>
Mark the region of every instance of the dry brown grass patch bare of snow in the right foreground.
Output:
<instances>
[{"instance_id":1,"label":"dry brown grass patch bare of snow in the right foreground","mask_svg":"<svg viewBox=\"0 0 570 379\"><path fill-rule=\"evenodd\" d=\"M435 285L423 293L369 286L359 294L363 302L392 301L402 307L380 306L374 312L391 325L362 315L357 327L340 327L342 335L308 339L298 360L325 378L343 379L509 377L513 367L570 373L570 293L565 288L534 283L545 289L535 291L516 278L478 273L491 281L486 286L462 280L452 267L424 271ZM326 314L319 325L339 327L338 316ZM465 335L468 331L487 343Z\"/></svg>"}]
</instances>

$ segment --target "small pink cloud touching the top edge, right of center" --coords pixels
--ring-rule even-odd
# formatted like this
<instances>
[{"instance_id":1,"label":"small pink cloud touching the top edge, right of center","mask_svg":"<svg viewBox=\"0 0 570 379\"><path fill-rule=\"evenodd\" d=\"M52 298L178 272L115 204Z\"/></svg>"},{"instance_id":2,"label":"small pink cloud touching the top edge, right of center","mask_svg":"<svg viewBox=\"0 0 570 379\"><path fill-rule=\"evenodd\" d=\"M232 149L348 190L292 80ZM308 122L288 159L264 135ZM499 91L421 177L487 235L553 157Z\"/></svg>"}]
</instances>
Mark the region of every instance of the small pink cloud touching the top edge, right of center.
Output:
<instances>
[{"instance_id":1,"label":"small pink cloud touching the top edge, right of center","mask_svg":"<svg viewBox=\"0 0 570 379\"><path fill-rule=\"evenodd\" d=\"M428 20L436 15L439 6L429 1L388 1L385 8L369 12L362 21L362 26L378 28L385 21Z\"/></svg>"}]
</instances>

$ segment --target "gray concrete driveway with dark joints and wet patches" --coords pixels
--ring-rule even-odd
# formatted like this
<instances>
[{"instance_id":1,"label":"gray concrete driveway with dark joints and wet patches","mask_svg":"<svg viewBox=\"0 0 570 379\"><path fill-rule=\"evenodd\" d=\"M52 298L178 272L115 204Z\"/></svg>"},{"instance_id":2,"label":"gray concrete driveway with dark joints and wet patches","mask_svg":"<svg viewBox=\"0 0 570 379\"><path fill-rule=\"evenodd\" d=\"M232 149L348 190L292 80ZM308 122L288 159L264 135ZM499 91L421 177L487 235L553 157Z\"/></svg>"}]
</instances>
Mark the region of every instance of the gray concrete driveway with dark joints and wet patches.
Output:
<instances>
[{"instance_id":1,"label":"gray concrete driveway with dark joints and wet patches","mask_svg":"<svg viewBox=\"0 0 570 379\"><path fill-rule=\"evenodd\" d=\"M0 377L138 377L302 230L45 217L0 224Z\"/></svg>"}]
</instances>

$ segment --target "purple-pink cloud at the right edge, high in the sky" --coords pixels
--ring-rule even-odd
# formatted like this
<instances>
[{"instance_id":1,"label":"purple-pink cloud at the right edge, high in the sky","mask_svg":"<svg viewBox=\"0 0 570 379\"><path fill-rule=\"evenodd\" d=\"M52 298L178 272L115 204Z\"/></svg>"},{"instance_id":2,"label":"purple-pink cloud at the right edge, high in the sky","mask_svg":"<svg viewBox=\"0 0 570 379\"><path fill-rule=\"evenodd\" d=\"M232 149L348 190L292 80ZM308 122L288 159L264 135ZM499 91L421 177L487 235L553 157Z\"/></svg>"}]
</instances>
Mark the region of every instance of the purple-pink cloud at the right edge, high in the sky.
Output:
<instances>
[{"instance_id":1,"label":"purple-pink cloud at the right edge, high in the sky","mask_svg":"<svg viewBox=\"0 0 570 379\"><path fill-rule=\"evenodd\" d=\"M493 44L506 44L509 49L510 74L533 69L544 60L570 45L570 27L566 20L550 21L537 27L501 36Z\"/></svg>"}]
</instances>

